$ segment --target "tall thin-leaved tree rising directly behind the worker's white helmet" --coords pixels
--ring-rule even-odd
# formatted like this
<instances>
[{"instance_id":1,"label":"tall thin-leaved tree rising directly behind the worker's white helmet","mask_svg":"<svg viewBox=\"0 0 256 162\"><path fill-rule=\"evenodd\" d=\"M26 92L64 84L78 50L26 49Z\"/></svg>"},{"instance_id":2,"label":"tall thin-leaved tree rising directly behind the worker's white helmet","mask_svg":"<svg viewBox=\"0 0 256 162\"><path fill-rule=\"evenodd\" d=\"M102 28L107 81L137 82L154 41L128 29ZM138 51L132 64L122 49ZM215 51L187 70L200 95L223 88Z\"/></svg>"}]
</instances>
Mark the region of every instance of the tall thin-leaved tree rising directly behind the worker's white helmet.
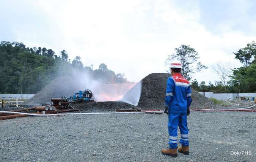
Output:
<instances>
[{"instance_id":1,"label":"tall thin-leaved tree rising directly behind the worker's white helmet","mask_svg":"<svg viewBox=\"0 0 256 162\"><path fill-rule=\"evenodd\" d=\"M195 49L191 48L187 45L181 45L179 48L174 48L175 53L172 55L168 55L165 64L170 64L172 60L179 60L182 63L181 74L188 80L191 79L191 74L195 72L200 72L202 69L206 69L207 66L202 65L199 62L198 52ZM170 73L171 68L168 68L168 72Z\"/></svg>"}]
</instances>

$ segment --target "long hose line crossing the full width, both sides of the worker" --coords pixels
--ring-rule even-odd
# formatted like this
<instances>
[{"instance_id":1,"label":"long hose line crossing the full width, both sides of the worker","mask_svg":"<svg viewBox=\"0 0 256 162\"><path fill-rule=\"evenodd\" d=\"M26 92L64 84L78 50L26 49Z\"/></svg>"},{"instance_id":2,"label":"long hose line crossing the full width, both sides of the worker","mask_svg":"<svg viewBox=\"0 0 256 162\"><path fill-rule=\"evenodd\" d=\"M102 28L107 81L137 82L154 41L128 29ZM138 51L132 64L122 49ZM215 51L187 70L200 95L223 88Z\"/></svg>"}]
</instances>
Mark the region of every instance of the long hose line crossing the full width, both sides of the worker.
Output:
<instances>
[{"instance_id":1,"label":"long hose line crossing the full width, both sides of the worker","mask_svg":"<svg viewBox=\"0 0 256 162\"><path fill-rule=\"evenodd\" d=\"M251 110L248 108L252 108L256 106L250 106L247 108L236 108L236 109L192 109L192 111L253 111L256 112L256 110ZM108 112L108 113L59 113L59 114L30 114L30 113L20 113L20 112L12 112L12 111L0 111L0 113L10 113L10 114L24 114L24 115L30 115L30 116L60 116L60 115L96 115L96 114L137 114L137 113L154 113L154 112L163 112L162 110L153 110L153 111L138 111L138 112Z\"/></svg>"}]
</instances>

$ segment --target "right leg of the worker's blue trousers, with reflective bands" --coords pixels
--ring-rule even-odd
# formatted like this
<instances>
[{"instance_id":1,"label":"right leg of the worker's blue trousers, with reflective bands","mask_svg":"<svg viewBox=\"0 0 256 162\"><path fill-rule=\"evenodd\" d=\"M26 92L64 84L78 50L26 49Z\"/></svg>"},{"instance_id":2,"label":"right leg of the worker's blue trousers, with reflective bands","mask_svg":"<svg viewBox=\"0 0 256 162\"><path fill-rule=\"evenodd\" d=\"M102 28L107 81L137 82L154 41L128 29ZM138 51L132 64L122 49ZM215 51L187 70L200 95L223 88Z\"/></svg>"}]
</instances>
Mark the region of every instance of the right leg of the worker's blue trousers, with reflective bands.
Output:
<instances>
[{"instance_id":1,"label":"right leg of the worker's blue trousers, with reflective bands","mask_svg":"<svg viewBox=\"0 0 256 162\"><path fill-rule=\"evenodd\" d=\"M179 143L182 144L182 146L188 146L188 127L187 127L187 114L181 114L179 117L179 130L181 131L181 139L179 140Z\"/></svg>"}]
</instances>

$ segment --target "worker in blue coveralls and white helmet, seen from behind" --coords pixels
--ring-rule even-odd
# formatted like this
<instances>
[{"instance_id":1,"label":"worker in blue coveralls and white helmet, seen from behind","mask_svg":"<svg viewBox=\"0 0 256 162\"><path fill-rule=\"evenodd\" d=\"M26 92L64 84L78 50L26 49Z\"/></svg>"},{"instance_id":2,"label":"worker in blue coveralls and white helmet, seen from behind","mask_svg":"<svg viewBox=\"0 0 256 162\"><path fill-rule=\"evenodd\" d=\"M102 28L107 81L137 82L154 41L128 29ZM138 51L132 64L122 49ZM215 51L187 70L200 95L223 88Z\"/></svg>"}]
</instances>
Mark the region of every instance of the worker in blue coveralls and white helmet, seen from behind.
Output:
<instances>
[{"instance_id":1,"label":"worker in blue coveralls and white helmet, seen from behind","mask_svg":"<svg viewBox=\"0 0 256 162\"><path fill-rule=\"evenodd\" d=\"M177 157L177 127L181 131L178 148L180 153L189 154L188 151L188 127L187 116L190 113L189 106L192 102L191 88L187 79L181 76L182 64L175 60L171 63L171 77L167 80L165 110L168 114L168 131L170 148L162 149L162 154Z\"/></svg>"}]
</instances>

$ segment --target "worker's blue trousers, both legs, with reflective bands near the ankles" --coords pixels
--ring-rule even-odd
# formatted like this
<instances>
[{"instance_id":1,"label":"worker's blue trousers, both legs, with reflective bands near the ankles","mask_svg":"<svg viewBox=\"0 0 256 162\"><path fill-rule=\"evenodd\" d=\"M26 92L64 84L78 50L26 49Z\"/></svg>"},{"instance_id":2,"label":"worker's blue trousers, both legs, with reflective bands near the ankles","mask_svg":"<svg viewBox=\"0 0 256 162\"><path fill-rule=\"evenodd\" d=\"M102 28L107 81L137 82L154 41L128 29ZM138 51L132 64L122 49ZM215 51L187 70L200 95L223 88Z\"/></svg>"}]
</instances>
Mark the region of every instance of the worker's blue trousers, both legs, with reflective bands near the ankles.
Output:
<instances>
[{"instance_id":1,"label":"worker's blue trousers, both legs, with reflective bands near the ankles","mask_svg":"<svg viewBox=\"0 0 256 162\"><path fill-rule=\"evenodd\" d=\"M188 146L188 127L187 127L187 114L168 114L168 131L169 131L169 145L170 148L177 148L178 125L181 131L181 139L179 143L182 146Z\"/></svg>"}]
</instances>

